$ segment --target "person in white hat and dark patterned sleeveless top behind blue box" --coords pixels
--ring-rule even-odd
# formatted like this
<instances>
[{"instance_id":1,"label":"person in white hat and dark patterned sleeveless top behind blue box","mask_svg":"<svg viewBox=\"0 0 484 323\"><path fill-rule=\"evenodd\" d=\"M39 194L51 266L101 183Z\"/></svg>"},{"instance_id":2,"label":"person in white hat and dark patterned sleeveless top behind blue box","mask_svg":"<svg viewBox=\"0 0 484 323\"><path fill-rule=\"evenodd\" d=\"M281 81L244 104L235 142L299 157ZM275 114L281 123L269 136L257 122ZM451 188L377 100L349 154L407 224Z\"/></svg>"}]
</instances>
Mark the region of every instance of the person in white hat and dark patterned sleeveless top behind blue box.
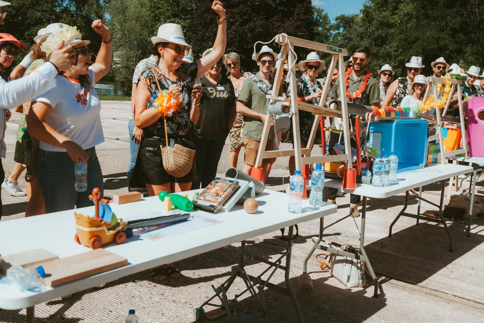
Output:
<instances>
[{"instance_id":1,"label":"person in white hat and dark patterned sleeveless top behind blue box","mask_svg":"<svg viewBox=\"0 0 484 323\"><path fill-rule=\"evenodd\" d=\"M406 63L405 66L407 67L407 77L398 77L390 84L382 108L388 106L400 107L400 103L410 90L408 84L413 82L413 79L420 75L423 67L425 67L425 65L422 65L422 57L419 56L412 56L410 62Z\"/></svg>"}]
</instances>

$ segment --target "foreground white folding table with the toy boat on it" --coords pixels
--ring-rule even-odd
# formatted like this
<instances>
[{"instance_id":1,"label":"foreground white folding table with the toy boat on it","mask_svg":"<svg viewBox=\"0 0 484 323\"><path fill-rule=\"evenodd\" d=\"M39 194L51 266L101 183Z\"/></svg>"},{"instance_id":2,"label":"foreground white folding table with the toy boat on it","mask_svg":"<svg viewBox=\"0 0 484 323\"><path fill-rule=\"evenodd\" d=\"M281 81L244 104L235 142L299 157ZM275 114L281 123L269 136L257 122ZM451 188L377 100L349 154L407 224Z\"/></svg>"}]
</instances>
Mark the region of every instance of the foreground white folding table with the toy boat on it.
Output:
<instances>
[{"instance_id":1,"label":"foreground white folding table with the toy boat on it","mask_svg":"<svg viewBox=\"0 0 484 323\"><path fill-rule=\"evenodd\" d=\"M187 194L189 197L192 196L190 192ZM55 288L47 288L39 293L19 292L13 286L0 284L0 308L27 308L27 322L33 323L34 306L36 304L76 293L62 308L47 319L47 322L54 322L95 286L241 241L242 248L239 249L242 249L241 262L243 262L243 256L248 254L243 249L246 239L284 227L289 227L290 238L292 236L292 226L295 224L336 213L336 206L333 204L325 204L320 208L314 208L309 207L308 200L302 201L302 213L288 213L287 194L267 189L257 196L256 199L259 201L259 210L256 214L247 214L243 210L242 205L237 204L228 213L207 213L211 218L221 221L211 226L174 236L166 236L155 241L140 240L133 237L126 239L126 242L121 245L112 243L106 245L106 250L128 259L127 266L115 270L79 279ZM127 215L160 211L161 201L158 197L149 197L143 198L138 202L121 205L110 204L110 206L117 217L122 218ZM74 241L76 233L74 211L84 215L93 215L94 206L0 222L0 254L6 256L17 252L43 248L58 255L59 258L64 258L90 251L90 248L78 245ZM279 269L285 270L286 293L292 298L299 321L304 322L289 282L291 245L292 243L289 240L286 253L284 254L286 256L286 265L281 266L280 260L282 257L275 265ZM264 262L268 261L265 260ZM241 266L243 267L243 263ZM271 288L275 286L276 288L274 289L281 291L280 286L271 286L267 284L267 281L261 282L260 276L257 276L253 283L253 285L258 284L256 288L260 290L260 287L262 287L263 290L263 287ZM223 306L224 304L222 304ZM265 309L263 312L266 315Z\"/></svg>"}]
</instances>

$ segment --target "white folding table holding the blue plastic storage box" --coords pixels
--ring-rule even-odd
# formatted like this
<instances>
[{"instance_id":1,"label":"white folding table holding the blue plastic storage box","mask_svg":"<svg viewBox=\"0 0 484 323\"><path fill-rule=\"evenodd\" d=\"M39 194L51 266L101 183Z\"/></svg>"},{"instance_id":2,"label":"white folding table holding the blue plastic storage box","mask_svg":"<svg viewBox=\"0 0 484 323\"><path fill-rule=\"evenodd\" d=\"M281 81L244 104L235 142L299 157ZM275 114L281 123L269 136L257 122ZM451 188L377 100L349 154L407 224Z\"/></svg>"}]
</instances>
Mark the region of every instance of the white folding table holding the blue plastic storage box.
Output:
<instances>
[{"instance_id":1,"label":"white folding table holding the blue plastic storage box","mask_svg":"<svg viewBox=\"0 0 484 323\"><path fill-rule=\"evenodd\" d=\"M319 228L319 238L314 244L314 246L311 248L309 253L306 255L306 259L304 260L304 266L303 266L303 273L306 273L306 265L307 261L313 254L315 249L320 249L320 250L325 250L329 252L333 252L335 254L341 255L341 256L346 256L348 258L352 259L357 259L360 261L364 261L366 263L366 267L368 268L368 271L373 278L373 281L375 283L375 291L374 291L374 296L378 297L378 278L375 275L375 272L373 271L373 268L371 266L371 263L368 259L368 256L366 255L366 251L364 250L364 230L365 230L365 218L366 218L366 199L367 198L374 198L374 199L385 199L388 197L391 197L393 195L406 192L405 194L405 205L402 211L396 216L396 218L393 220L392 225L390 226L389 230L389 237L392 237L392 227L395 224L395 222L400 218L400 216L409 216L426 221L433 221L433 222L438 222L443 224L445 231L447 231L447 234L450 239L450 246L449 246L449 251L452 251L452 246L454 243L454 240L452 238L452 235L447 228L446 220L442 216L442 204L443 204L443 199L444 199L444 189L445 189L445 182L448 178L453 177L453 176L458 176L460 174L466 174L469 172L472 172L473 168L470 166L463 166L463 165L455 165L455 164L432 164L429 166L426 166L423 169L414 169L414 170L408 170L404 172L397 173L397 181L398 183L392 184L388 187L373 187L368 184L361 184L361 183L356 183L356 188L355 189L346 189L342 188L342 190L346 193L351 193L351 194L356 194L356 195L361 195L363 196L363 200L360 202L360 204L363 205L362 208L362 215L361 215L361 233L360 233L360 254L355 254L355 253L350 253L347 251L343 251L337 248L333 248L329 244L327 244L325 241L322 240L323 236L323 219L320 220L320 228ZM428 200L423 199L420 194L416 194L415 198L419 200L423 200L427 203L430 203L436 207L439 207L439 217L437 216L431 216L431 215L420 215L420 212L418 212L417 215L412 215L405 213L405 210L407 209L407 204L408 204L408 192L410 189L416 188L416 187L422 187L423 185L428 185L432 184L435 182L442 181L442 191L440 195L440 205L437 205L435 203L432 203ZM333 188L341 188L342 181L341 180L336 180L336 179L326 179L324 181L325 187L333 187ZM418 225L418 222L417 222ZM322 244L321 244L322 242Z\"/></svg>"}]
</instances>

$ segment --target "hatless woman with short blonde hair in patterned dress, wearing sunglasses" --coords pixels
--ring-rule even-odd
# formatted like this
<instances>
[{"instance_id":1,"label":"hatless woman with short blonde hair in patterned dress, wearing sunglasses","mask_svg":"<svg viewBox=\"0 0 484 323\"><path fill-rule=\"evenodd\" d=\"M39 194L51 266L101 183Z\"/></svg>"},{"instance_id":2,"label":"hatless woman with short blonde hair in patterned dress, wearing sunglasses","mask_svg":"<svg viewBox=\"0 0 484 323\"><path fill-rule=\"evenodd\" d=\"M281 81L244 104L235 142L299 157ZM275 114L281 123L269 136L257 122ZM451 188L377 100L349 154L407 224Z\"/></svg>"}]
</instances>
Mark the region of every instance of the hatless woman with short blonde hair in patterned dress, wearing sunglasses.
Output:
<instances>
[{"instance_id":1,"label":"hatless woman with short blonde hair in patterned dress, wearing sunglasses","mask_svg":"<svg viewBox=\"0 0 484 323\"><path fill-rule=\"evenodd\" d=\"M234 87L235 96L238 98L239 93L242 89L243 81L250 77L251 73L240 71L241 68L241 57L239 54L231 52L225 54L225 66L227 67L230 75L228 79L232 82ZM237 113L235 117L235 122L229 132L228 138L228 167L237 168L237 160L239 159L239 153L241 147L243 146L243 136L242 136L242 126L243 126L243 116Z\"/></svg>"}]
</instances>

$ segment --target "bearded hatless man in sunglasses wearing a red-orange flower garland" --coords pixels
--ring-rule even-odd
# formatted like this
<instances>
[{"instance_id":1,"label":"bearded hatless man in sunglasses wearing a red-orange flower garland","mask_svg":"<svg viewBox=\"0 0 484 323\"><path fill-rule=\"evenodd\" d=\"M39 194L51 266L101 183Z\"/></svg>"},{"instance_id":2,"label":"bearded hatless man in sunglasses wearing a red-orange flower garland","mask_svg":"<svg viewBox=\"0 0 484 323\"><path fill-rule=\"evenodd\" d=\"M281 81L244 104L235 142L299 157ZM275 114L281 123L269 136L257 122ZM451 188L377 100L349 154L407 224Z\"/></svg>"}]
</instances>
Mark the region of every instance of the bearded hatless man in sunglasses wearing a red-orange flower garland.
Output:
<instances>
[{"instance_id":1,"label":"bearded hatless man in sunglasses wearing a red-orange flower garland","mask_svg":"<svg viewBox=\"0 0 484 323\"><path fill-rule=\"evenodd\" d=\"M348 101L356 104L363 104L365 106L370 106L372 108L380 108L380 87L378 81L369 77L368 71L366 70L366 64L370 61L370 49L366 46L358 46L352 56L352 68L348 68L349 79L348 88L341 90L339 87L339 77L334 83L333 92L331 98L336 100L341 100L343 95L347 95ZM345 77L340 75L340 77ZM366 86L363 86L364 79L367 79ZM346 92L348 90L348 93ZM361 94L357 94L360 93ZM354 127L353 123L353 127ZM334 120L332 123L332 129L335 129ZM329 147L333 150L333 147L338 143L339 134L332 132L329 140ZM344 138L342 138L344 142ZM351 146L356 148L356 141L350 140ZM338 189L327 187L326 192L328 192L328 202L336 204L336 193ZM350 194L350 209L349 215L352 217L360 216L360 211L358 211L358 203L361 200L361 196Z\"/></svg>"}]
</instances>

